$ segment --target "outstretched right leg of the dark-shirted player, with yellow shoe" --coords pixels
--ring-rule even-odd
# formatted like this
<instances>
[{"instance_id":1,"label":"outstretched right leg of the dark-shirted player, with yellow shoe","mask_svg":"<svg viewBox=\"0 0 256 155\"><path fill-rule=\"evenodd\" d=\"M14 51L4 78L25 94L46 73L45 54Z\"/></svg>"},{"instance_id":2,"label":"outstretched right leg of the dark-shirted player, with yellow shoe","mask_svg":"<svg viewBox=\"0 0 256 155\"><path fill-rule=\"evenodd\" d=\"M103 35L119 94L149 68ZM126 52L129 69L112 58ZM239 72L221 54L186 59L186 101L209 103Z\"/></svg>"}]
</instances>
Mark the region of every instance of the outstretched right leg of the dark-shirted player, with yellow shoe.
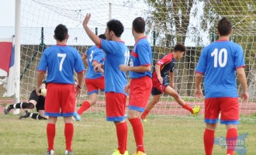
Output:
<instances>
[{"instance_id":1,"label":"outstretched right leg of the dark-shirted player, with yellow shoe","mask_svg":"<svg viewBox=\"0 0 256 155\"><path fill-rule=\"evenodd\" d=\"M200 106L195 106L194 108L191 108L185 101L181 98L180 95L178 95L178 92L175 91L173 88L170 86L167 86L164 90L165 93L168 95L171 95L173 98L175 98L175 101L178 102L178 105L181 105L182 108L185 108L189 110L194 115L197 115L200 112Z\"/></svg>"}]
</instances>

